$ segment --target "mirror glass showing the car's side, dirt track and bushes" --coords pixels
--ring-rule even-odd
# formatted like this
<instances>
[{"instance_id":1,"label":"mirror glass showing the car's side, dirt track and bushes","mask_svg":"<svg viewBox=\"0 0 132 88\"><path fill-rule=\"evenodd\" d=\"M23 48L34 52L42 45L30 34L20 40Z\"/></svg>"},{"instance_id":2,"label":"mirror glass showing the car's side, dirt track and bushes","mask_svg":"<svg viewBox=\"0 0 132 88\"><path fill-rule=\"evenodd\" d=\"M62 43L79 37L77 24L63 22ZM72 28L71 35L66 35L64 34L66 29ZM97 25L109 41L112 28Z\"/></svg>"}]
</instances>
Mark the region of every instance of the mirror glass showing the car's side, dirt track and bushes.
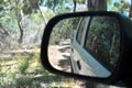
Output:
<instances>
[{"instance_id":1,"label":"mirror glass showing the car's side, dirt track and bushes","mask_svg":"<svg viewBox=\"0 0 132 88\"><path fill-rule=\"evenodd\" d=\"M120 37L114 16L64 19L52 31L48 61L62 72L106 78L117 65Z\"/></svg>"}]
</instances>

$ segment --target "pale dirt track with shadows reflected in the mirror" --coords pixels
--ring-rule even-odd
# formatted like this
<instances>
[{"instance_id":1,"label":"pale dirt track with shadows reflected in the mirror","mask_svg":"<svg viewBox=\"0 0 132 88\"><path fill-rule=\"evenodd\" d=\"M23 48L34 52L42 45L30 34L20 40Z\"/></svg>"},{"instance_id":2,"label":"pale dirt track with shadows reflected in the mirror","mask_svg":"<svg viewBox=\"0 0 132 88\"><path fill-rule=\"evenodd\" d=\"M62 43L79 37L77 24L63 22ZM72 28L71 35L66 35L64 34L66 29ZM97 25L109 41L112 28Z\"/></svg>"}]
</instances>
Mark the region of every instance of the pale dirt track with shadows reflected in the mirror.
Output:
<instances>
[{"instance_id":1,"label":"pale dirt track with shadows reflected in the mirror","mask_svg":"<svg viewBox=\"0 0 132 88\"><path fill-rule=\"evenodd\" d=\"M65 41L58 45L48 46L48 58L51 65L58 69L70 73L70 41Z\"/></svg>"}]
</instances>

